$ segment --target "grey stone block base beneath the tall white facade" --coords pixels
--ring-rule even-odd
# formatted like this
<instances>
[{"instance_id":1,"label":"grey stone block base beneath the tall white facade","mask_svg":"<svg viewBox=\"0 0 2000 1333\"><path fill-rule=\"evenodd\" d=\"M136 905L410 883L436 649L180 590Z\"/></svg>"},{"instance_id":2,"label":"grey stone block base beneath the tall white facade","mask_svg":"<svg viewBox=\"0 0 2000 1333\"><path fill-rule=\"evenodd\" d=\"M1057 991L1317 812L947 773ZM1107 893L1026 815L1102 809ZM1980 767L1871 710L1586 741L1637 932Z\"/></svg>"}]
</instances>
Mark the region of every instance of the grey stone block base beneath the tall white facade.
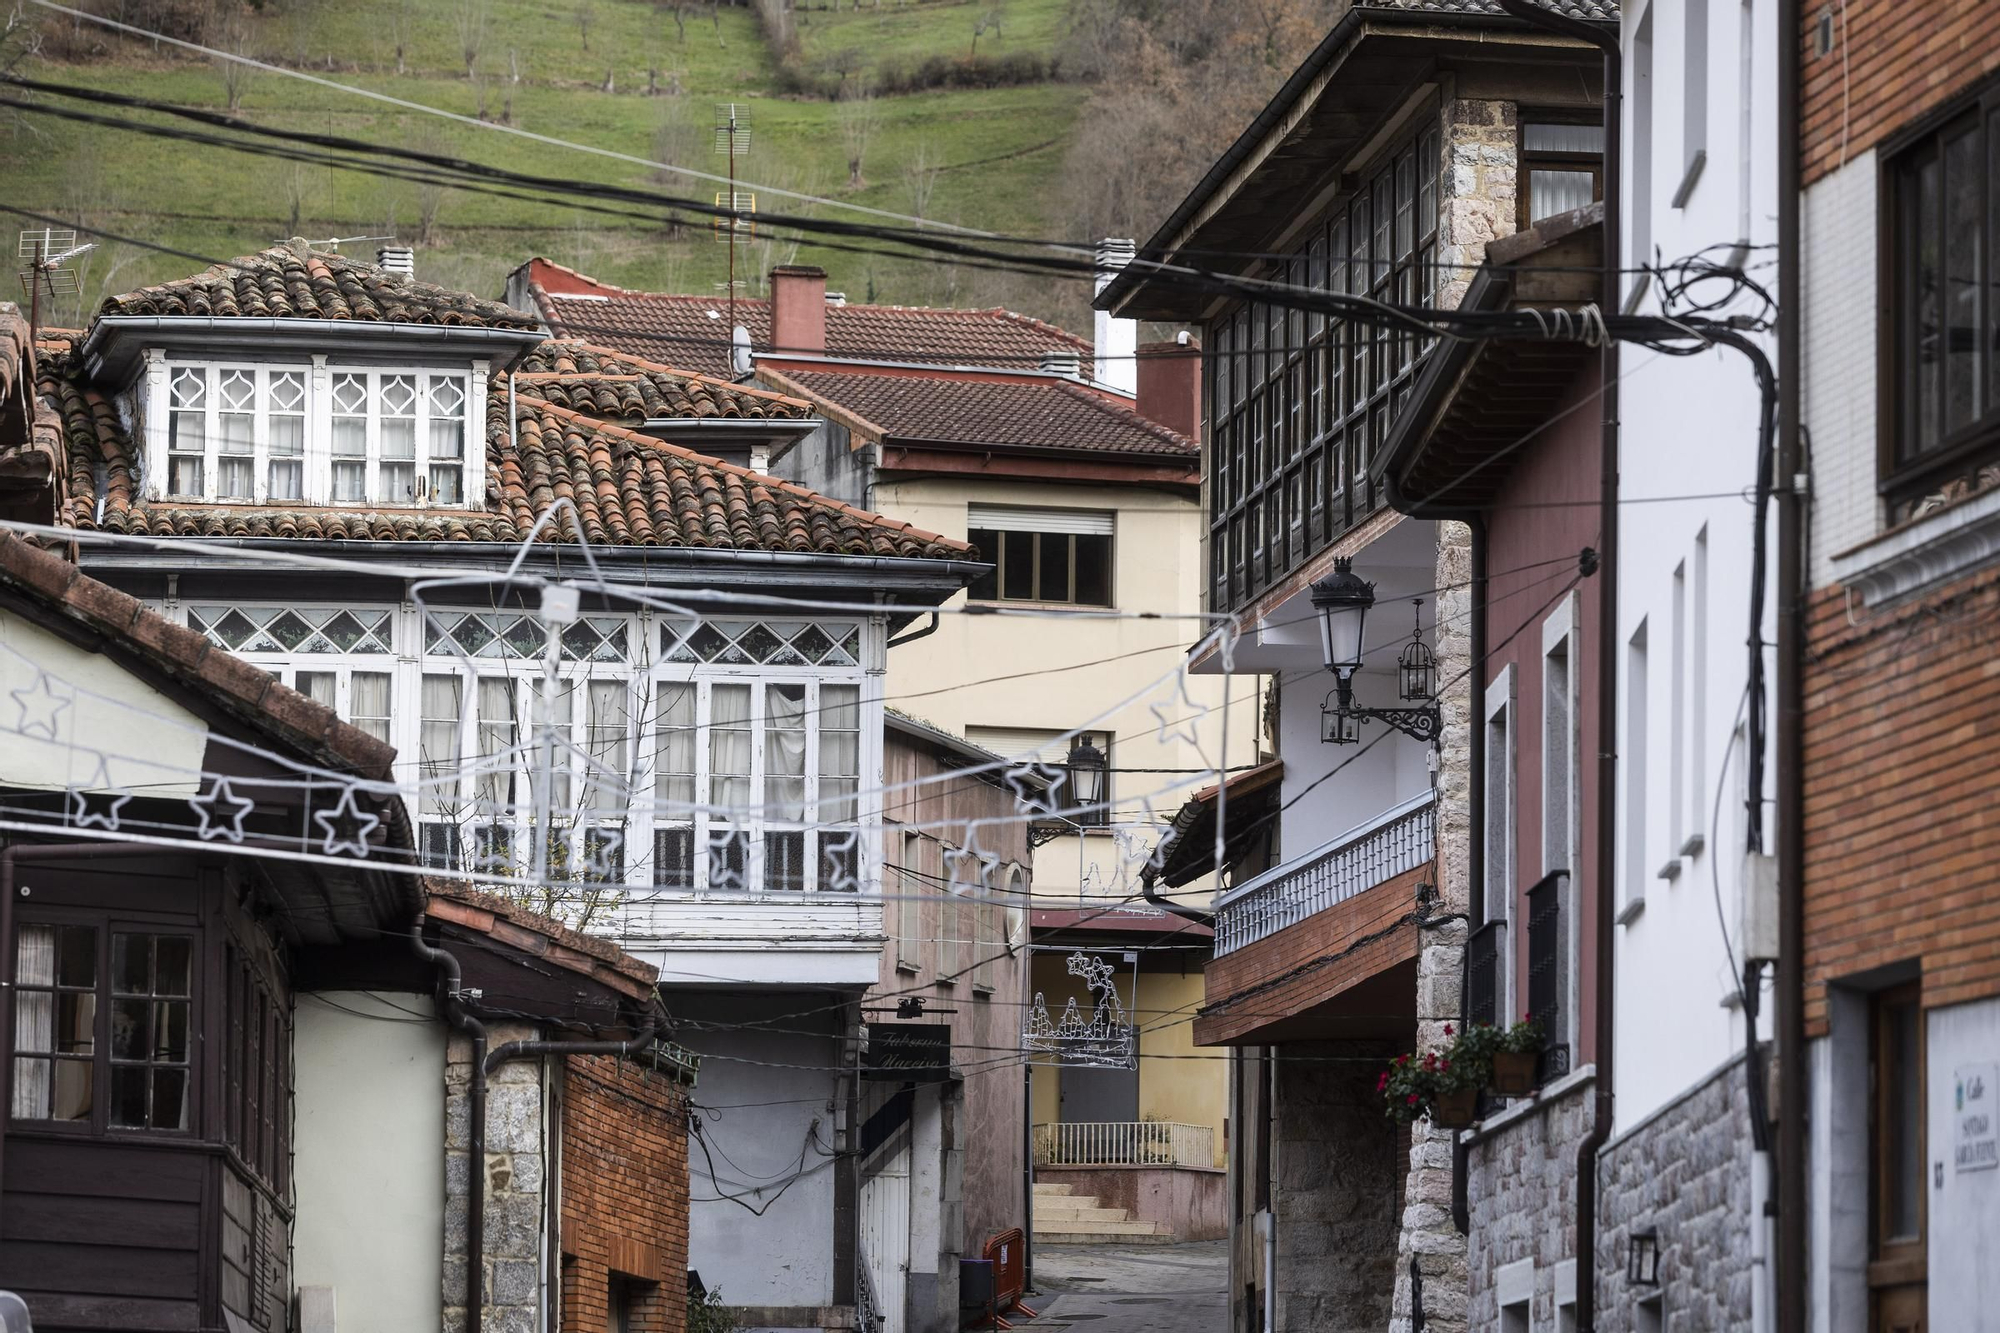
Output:
<instances>
[{"instance_id":1,"label":"grey stone block base beneath the tall white facade","mask_svg":"<svg viewBox=\"0 0 2000 1333\"><path fill-rule=\"evenodd\" d=\"M1598 1157L1598 1327L1632 1329L1626 1235L1660 1233L1660 1327L1750 1327L1750 1091L1742 1057Z\"/></svg>"}]
</instances>

